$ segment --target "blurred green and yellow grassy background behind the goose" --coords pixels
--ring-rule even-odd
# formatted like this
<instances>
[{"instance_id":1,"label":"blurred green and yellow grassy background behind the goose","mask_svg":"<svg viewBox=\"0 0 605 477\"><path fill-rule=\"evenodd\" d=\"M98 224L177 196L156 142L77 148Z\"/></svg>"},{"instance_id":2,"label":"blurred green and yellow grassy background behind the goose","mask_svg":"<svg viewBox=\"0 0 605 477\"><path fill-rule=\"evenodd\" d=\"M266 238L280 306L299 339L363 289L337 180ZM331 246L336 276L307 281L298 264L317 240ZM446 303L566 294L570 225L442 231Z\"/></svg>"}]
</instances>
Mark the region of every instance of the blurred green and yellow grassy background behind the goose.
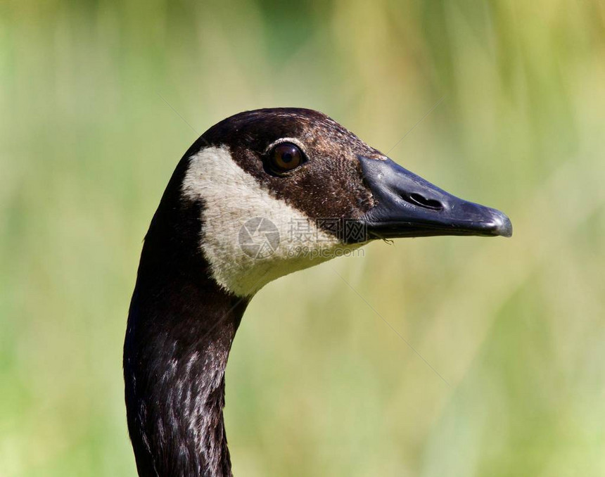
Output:
<instances>
[{"instance_id":1,"label":"blurred green and yellow grassy background behind the goose","mask_svg":"<svg viewBox=\"0 0 605 477\"><path fill-rule=\"evenodd\" d=\"M3 1L0 81L1 477L135 475L141 241L198 134L269 106L515 233L372 243L262 290L227 368L236 476L605 475L602 2Z\"/></svg>"}]
</instances>

